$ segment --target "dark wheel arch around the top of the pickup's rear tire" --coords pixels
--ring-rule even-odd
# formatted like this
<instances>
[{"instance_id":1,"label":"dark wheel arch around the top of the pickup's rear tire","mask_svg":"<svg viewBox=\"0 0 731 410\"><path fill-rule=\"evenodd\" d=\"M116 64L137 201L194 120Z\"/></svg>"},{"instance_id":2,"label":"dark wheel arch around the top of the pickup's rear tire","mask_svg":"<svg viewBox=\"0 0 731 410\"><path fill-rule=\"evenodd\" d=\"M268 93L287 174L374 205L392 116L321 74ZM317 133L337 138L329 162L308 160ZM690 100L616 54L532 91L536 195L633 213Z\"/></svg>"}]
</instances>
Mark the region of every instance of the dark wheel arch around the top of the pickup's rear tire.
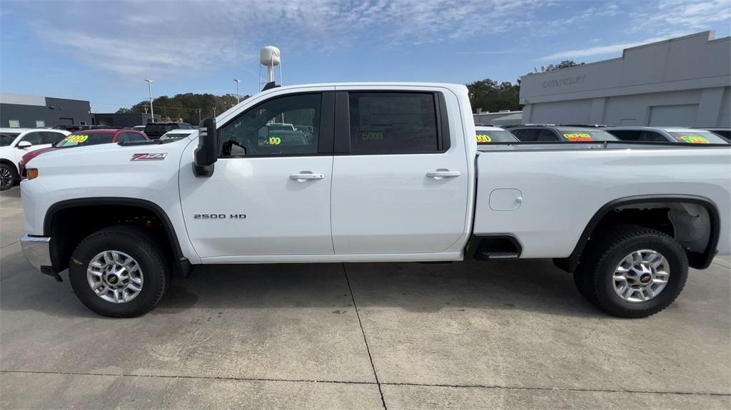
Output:
<instances>
[{"instance_id":1,"label":"dark wheel arch around the top of the pickup's rear tire","mask_svg":"<svg viewBox=\"0 0 731 410\"><path fill-rule=\"evenodd\" d=\"M586 249L586 245L591 240L591 236L596 232L597 228L602 228L602 222L605 222L613 211L623 211L625 209L643 209L641 206L646 205L646 209L664 209L670 204L681 205L681 204L694 204L701 206L705 209L708 214L708 239L706 241L705 249L702 252L690 252L688 255L689 265L697 269L705 269L711 265L713 256L716 255L716 247L719 243L719 234L721 231L721 220L719 217L719 210L716 204L708 198L701 196L689 196L689 195L648 195L648 196L630 196L625 198L618 198L608 202L591 217L591 220L586 224L579 240L577 241L574 250L567 258L556 258L553 263L558 268L564 271L573 272L577 268L580 262L581 255ZM678 228L675 225L678 221L673 221L672 217L668 217L668 222L673 225L673 228ZM652 227L652 226L651 226ZM675 235L671 233L671 236L675 238Z\"/></svg>"}]
</instances>

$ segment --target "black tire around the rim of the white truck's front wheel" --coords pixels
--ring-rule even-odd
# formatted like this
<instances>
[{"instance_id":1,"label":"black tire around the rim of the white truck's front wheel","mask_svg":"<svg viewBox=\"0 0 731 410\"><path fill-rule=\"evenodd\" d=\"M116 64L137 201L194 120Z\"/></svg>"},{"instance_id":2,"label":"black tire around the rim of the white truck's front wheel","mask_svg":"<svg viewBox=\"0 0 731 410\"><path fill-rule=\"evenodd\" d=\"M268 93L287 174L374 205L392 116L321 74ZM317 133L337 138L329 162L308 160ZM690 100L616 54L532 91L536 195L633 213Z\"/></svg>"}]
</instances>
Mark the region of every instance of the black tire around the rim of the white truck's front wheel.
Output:
<instances>
[{"instance_id":1,"label":"black tire around the rim of the white truck's front wheel","mask_svg":"<svg viewBox=\"0 0 731 410\"><path fill-rule=\"evenodd\" d=\"M99 252L115 250L134 258L143 272L143 286L131 301L112 303L91 290L86 269ZM81 241L69 260L69 282L77 297L88 309L108 317L137 317L157 306L167 290L170 272L164 252L148 231L135 226L104 228Z\"/></svg>"}]
</instances>

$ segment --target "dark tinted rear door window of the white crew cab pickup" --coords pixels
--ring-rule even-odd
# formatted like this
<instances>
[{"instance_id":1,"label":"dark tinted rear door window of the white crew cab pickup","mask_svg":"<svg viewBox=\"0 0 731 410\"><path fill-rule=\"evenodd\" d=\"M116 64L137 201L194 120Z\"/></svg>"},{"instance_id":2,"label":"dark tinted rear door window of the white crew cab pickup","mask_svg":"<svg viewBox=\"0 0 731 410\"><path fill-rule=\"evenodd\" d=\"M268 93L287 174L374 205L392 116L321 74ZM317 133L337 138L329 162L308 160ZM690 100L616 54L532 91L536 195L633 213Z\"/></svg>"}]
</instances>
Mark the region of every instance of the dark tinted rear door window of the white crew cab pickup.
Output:
<instances>
[{"instance_id":1,"label":"dark tinted rear door window of the white crew cab pickup","mask_svg":"<svg viewBox=\"0 0 731 410\"><path fill-rule=\"evenodd\" d=\"M433 93L349 93L350 153L439 152Z\"/></svg>"}]
</instances>

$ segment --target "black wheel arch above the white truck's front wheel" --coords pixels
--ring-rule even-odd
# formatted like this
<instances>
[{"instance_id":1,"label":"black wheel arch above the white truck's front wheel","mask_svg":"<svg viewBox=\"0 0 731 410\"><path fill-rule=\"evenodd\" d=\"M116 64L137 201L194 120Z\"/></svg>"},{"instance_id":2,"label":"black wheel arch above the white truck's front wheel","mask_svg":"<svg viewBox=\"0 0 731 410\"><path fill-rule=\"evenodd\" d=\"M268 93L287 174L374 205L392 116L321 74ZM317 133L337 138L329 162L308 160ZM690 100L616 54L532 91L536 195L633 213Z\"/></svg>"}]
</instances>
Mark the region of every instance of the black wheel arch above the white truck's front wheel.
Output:
<instances>
[{"instance_id":1,"label":"black wheel arch above the white truck's front wheel","mask_svg":"<svg viewBox=\"0 0 731 410\"><path fill-rule=\"evenodd\" d=\"M173 256L173 268L175 274L179 276L187 276L190 271L189 260L183 255L178 236L175 234L175 228L167 213L157 204L140 198L124 198L124 197L94 197L94 198L76 198L65 201L59 201L51 205L46 211L43 220L43 235L51 237L51 260L53 262L54 271L62 271L67 268L68 258L72 249L67 249L69 245L64 247L63 241L56 240L58 216L64 212L84 212L90 210L103 209L126 209L129 211L143 210L145 215L153 215L162 226L162 231L167 239L165 243ZM124 215L123 215L124 216ZM112 218L113 219L113 218ZM88 222L88 221L85 221ZM68 223L68 221L66 221ZM75 246L75 244L73 245Z\"/></svg>"}]
</instances>

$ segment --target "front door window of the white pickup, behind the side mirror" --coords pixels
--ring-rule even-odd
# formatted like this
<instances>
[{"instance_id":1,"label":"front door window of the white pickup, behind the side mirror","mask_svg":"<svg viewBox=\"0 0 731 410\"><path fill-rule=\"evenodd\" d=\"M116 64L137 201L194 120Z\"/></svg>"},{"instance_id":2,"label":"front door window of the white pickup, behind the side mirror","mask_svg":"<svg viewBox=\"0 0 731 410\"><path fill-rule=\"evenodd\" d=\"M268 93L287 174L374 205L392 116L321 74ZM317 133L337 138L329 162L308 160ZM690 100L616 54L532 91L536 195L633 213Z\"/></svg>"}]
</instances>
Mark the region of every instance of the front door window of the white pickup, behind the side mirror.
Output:
<instances>
[{"instance_id":1,"label":"front door window of the white pickup, behind the side mirror","mask_svg":"<svg viewBox=\"0 0 731 410\"><path fill-rule=\"evenodd\" d=\"M317 154L321 96L274 98L249 109L221 128L221 157ZM292 124L312 128L311 134Z\"/></svg>"}]
</instances>

